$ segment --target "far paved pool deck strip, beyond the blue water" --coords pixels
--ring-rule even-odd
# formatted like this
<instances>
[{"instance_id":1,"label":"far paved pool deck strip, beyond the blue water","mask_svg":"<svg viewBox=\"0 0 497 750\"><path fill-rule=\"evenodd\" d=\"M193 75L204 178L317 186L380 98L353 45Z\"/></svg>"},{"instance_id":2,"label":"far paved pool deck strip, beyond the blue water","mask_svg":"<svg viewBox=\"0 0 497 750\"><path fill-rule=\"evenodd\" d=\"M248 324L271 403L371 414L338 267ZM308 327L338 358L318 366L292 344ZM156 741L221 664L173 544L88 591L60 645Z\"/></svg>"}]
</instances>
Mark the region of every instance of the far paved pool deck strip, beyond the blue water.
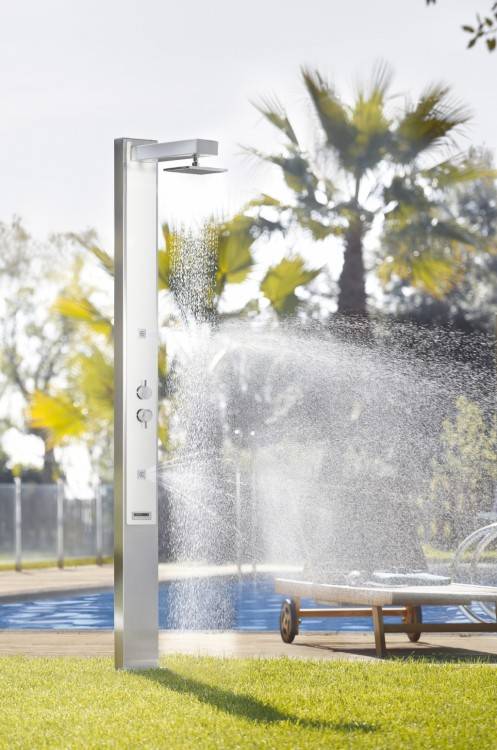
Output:
<instances>
[{"instance_id":1,"label":"far paved pool deck strip, beyond the blue water","mask_svg":"<svg viewBox=\"0 0 497 750\"><path fill-rule=\"evenodd\" d=\"M294 573L298 566L257 565L257 573ZM161 563L159 581L178 581L186 578L211 578L213 576L251 575L252 565L182 565ZM94 593L109 590L114 585L112 565L80 565L59 570L59 568L38 568L33 570L0 571L0 603L20 601L33 597L46 597L65 593Z\"/></svg>"}]
</instances>

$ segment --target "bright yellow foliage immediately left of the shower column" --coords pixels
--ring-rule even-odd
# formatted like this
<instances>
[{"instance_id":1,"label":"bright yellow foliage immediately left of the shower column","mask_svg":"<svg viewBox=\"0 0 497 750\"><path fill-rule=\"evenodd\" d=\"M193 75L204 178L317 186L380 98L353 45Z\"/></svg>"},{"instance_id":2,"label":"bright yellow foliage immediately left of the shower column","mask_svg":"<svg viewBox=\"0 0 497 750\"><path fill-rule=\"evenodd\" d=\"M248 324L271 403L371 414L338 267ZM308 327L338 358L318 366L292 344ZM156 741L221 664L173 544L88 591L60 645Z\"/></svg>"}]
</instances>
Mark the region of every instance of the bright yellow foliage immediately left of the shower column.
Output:
<instances>
[{"instance_id":1,"label":"bright yellow foliage immediately left of the shower column","mask_svg":"<svg viewBox=\"0 0 497 750\"><path fill-rule=\"evenodd\" d=\"M52 318L70 325L75 340L64 357L64 382L37 388L29 399L28 416L33 427L46 431L52 447L85 444L95 475L110 480L114 371L112 300L107 295L112 292L113 262L93 238L67 238L89 250L96 266L78 255L70 282L54 300ZM100 283L93 281L98 270ZM103 298L100 306L97 298Z\"/></svg>"}]
</instances>

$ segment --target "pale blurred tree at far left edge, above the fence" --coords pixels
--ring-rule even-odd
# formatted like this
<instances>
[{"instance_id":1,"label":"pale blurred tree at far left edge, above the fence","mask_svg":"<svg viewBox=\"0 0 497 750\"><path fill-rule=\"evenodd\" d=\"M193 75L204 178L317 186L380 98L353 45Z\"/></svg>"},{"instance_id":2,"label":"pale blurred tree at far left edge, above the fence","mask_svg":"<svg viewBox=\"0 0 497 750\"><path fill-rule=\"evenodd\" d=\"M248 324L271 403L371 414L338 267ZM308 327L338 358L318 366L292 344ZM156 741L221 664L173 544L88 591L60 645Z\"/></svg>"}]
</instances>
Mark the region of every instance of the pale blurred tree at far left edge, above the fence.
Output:
<instances>
[{"instance_id":1,"label":"pale blurred tree at far left edge, above the fence","mask_svg":"<svg viewBox=\"0 0 497 750\"><path fill-rule=\"evenodd\" d=\"M54 316L51 305L68 281L71 249L54 238L36 243L19 219L0 224L0 387L4 428L40 438L43 481L61 472L50 431L31 421L29 405L38 393L66 384L65 363L76 341L75 327Z\"/></svg>"}]
</instances>

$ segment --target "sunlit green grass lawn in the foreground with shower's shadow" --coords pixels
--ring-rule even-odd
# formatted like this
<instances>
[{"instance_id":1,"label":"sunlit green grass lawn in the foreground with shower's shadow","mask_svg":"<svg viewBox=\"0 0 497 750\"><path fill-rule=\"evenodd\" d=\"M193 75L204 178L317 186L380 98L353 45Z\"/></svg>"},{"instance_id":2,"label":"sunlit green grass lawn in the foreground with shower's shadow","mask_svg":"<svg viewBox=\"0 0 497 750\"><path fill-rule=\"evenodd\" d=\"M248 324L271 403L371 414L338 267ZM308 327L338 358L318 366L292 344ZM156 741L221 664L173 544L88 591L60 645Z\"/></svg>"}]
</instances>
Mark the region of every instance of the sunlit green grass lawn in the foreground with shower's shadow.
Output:
<instances>
[{"instance_id":1,"label":"sunlit green grass lawn in the foreground with shower's shadow","mask_svg":"<svg viewBox=\"0 0 497 750\"><path fill-rule=\"evenodd\" d=\"M497 668L425 661L0 659L0 747L495 748Z\"/></svg>"}]
</instances>

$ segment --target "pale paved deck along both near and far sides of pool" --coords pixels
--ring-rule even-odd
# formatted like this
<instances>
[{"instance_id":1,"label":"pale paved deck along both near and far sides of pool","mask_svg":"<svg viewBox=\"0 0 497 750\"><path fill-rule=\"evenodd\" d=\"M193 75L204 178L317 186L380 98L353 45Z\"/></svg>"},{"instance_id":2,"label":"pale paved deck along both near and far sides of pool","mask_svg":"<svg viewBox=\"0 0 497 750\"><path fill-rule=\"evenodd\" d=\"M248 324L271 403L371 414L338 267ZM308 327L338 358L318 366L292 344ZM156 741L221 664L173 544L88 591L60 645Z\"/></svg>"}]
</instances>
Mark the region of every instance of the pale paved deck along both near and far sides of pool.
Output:
<instances>
[{"instance_id":1,"label":"pale paved deck along both near and far sides of pool","mask_svg":"<svg viewBox=\"0 0 497 750\"><path fill-rule=\"evenodd\" d=\"M258 573L292 573L298 567L258 565ZM223 575L250 575L252 565L159 565L159 580L173 581ZM73 568L42 568L0 572L0 604L9 601L68 593L90 593L113 586L112 565L84 565ZM193 654L235 658L287 656L310 660L377 661L373 633L300 634L292 645L279 633L268 632L180 632L161 631L160 653ZM481 659L497 664L497 636L431 634L429 640L410 643L405 635L387 636L389 656L431 657L452 661ZM0 630L0 656L107 656L113 655L111 630Z\"/></svg>"}]
</instances>

